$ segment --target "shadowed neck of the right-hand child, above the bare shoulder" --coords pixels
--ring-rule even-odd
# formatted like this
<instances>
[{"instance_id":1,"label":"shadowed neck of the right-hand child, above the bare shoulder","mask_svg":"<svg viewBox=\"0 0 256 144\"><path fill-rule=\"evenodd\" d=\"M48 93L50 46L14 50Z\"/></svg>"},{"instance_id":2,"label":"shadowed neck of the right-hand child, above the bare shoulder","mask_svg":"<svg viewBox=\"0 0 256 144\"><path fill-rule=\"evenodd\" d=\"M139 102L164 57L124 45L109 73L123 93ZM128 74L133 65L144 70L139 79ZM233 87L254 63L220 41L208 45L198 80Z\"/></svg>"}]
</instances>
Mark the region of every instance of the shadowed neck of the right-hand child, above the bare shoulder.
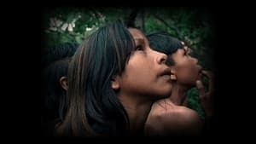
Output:
<instances>
[{"instance_id":1,"label":"shadowed neck of the right-hand child, above the bare shoulder","mask_svg":"<svg viewBox=\"0 0 256 144\"><path fill-rule=\"evenodd\" d=\"M183 102L186 99L186 95L189 88L183 86L182 84L173 84L172 85L172 95L169 99L177 106L182 106Z\"/></svg>"}]
</instances>

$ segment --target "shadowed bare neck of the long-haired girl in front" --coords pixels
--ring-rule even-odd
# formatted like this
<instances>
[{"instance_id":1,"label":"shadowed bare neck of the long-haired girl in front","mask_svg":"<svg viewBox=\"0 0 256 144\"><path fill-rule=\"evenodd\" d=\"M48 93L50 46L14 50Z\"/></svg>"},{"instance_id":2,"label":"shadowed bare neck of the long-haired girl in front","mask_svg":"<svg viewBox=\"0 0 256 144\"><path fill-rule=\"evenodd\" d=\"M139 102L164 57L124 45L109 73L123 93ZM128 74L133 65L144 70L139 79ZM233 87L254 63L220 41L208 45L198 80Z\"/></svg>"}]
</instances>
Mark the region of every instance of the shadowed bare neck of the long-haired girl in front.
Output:
<instances>
[{"instance_id":1,"label":"shadowed bare neck of the long-haired girl in front","mask_svg":"<svg viewBox=\"0 0 256 144\"><path fill-rule=\"evenodd\" d=\"M119 95L130 121L131 135L142 135L153 101L139 100L141 96Z\"/></svg>"}]
</instances>

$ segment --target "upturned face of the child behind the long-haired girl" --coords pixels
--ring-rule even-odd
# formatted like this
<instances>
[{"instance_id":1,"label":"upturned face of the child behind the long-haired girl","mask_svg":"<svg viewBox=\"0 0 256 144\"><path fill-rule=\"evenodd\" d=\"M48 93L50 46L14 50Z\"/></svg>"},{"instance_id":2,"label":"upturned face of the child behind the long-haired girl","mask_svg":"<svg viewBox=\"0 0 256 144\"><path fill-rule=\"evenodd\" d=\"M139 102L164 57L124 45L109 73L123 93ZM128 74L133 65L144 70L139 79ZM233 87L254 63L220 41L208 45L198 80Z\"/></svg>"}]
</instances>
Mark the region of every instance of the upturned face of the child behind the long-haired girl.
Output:
<instances>
[{"instance_id":1,"label":"upturned face of the child behind the long-haired girl","mask_svg":"<svg viewBox=\"0 0 256 144\"><path fill-rule=\"evenodd\" d=\"M173 68L176 71L177 83L193 87L200 77L201 66L198 65L197 59L189 55L188 51L187 47L183 47L172 54L175 63Z\"/></svg>"}]
</instances>

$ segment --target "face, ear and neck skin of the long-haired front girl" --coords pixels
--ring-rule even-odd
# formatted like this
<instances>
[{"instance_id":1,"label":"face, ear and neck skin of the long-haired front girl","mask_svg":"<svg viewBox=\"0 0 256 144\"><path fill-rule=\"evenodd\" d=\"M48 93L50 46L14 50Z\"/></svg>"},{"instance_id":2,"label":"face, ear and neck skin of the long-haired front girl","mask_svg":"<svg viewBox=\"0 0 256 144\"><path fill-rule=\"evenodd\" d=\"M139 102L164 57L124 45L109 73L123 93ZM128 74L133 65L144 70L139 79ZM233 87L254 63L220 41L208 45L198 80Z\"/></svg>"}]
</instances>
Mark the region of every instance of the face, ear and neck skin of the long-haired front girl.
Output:
<instances>
[{"instance_id":1,"label":"face, ear and neck skin of the long-haired front girl","mask_svg":"<svg viewBox=\"0 0 256 144\"><path fill-rule=\"evenodd\" d=\"M143 128L153 101L168 97L172 92L167 56L151 49L147 38L137 29L129 29L136 50L131 54L125 71L113 78L112 88L118 91L125 107L131 135L143 135Z\"/></svg>"}]
</instances>

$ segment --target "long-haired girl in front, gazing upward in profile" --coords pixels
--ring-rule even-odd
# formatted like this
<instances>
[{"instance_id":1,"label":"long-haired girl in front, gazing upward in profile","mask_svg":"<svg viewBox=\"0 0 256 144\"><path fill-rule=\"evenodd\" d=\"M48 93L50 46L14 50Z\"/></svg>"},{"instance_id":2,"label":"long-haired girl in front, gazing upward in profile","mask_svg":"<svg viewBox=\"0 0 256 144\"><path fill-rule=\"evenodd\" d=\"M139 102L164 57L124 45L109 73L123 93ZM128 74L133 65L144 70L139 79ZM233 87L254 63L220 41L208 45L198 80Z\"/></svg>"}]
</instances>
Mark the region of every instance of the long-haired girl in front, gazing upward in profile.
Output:
<instances>
[{"instance_id":1,"label":"long-haired girl in front, gazing upward in profile","mask_svg":"<svg viewBox=\"0 0 256 144\"><path fill-rule=\"evenodd\" d=\"M152 103L171 95L166 55L121 21L87 37L68 69L68 108L57 134L143 135Z\"/></svg>"}]
</instances>

